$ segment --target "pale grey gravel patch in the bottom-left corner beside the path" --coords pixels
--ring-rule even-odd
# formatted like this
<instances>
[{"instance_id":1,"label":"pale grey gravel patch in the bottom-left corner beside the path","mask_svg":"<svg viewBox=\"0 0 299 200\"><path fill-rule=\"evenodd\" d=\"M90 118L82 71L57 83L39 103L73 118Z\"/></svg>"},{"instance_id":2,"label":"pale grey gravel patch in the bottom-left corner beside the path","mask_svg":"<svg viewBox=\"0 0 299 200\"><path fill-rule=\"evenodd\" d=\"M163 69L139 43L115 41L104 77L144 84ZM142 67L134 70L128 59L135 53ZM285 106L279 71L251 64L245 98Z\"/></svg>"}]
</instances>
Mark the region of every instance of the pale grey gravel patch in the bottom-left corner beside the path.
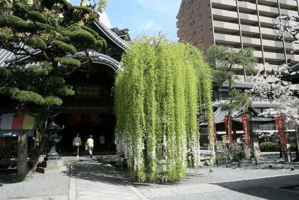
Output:
<instances>
[{"instance_id":1,"label":"pale grey gravel patch in the bottom-left corner beside the path","mask_svg":"<svg viewBox=\"0 0 299 200\"><path fill-rule=\"evenodd\" d=\"M0 200L68 195L69 171L35 173L24 181L14 183L14 175L0 174Z\"/></svg>"}]
</instances>

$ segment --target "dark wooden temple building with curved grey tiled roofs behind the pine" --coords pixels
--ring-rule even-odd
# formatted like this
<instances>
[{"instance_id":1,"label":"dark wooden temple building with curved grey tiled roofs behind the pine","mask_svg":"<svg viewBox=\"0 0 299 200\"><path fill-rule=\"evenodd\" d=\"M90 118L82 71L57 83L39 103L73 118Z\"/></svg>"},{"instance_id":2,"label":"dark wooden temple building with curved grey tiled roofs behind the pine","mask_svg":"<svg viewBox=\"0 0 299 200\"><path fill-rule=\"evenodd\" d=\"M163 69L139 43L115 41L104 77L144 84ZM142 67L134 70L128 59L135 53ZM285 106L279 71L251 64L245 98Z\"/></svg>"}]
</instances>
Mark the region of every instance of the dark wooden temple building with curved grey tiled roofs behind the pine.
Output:
<instances>
[{"instance_id":1,"label":"dark wooden temple building with curved grey tiled roofs behind the pine","mask_svg":"<svg viewBox=\"0 0 299 200\"><path fill-rule=\"evenodd\" d=\"M80 134L83 143L89 135L93 135L96 152L115 151L114 77L116 71L120 68L122 54L129 48L124 38L130 40L130 36L128 29L111 29L109 24L107 17L100 17L94 21L93 29L106 40L108 48L102 53L88 52L93 60L90 70L88 72L76 71L65 79L67 84L74 87L75 95L65 97L61 106L53 108L53 111L58 113L54 118L55 123L65 127L58 133L58 137L61 139L58 151L72 152L72 140L77 133ZM40 51L33 52L35 55L39 53ZM77 52L66 57L82 58L86 57L86 53ZM13 53L0 49L0 67L5 66L10 61L26 59L28 57L16 58ZM15 119L16 117L13 114L9 114L10 110L5 107L7 105L2 102L0 110L0 113L2 113L0 114L0 148L1 153L4 154L9 151L11 155L0 155L2 160L5 158L3 161L0 160L2 163L7 162L8 157L15 157L15 155L12 155L14 152L12 149L16 150L17 136L19 131L24 128L23 123L26 122L26 126L31 125L29 128L31 131L28 134L29 148L34 131L34 122L32 120L29 123L28 120L24 121L23 119L22 124L19 123L20 120ZM28 118L26 115L21 117ZM18 121L17 124L15 124L16 121ZM98 144L100 144L99 138L101 135L105 138L105 144L101 145L102 147L99 149L100 145Z\"/></svg>"}]
</instances>

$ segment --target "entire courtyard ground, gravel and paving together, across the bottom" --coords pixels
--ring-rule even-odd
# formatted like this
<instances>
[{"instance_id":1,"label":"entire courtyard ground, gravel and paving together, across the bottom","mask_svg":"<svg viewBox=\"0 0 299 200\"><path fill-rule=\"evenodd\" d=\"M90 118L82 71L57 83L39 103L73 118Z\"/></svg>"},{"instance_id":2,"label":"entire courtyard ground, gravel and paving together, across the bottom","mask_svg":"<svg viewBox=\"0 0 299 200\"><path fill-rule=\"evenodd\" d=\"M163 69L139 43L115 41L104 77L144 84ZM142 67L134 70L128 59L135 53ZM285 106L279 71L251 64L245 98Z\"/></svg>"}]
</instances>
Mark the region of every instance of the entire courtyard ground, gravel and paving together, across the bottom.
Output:
<instances>
[{"instance_id":1,"label":"entire courtyard ground, gravel and paving together, across the bottom","mask_svg":"<svg viewBox=\"0 0 299 200\"><path fill-rule=\"evenodd\" d=\"M65 164L71 164L71 176L69 170L53 174L36 173L19 183L13 181L13 176L0 176L0 199L298 199L299 163L281 163L282 159L278 157L269 153L257 166L249 163L243 163L240 168L219 165L212 169L213 172L208 167L198 171L188 169L186 178L174 184L141 184L136 183L127 170L115 167L116 156L95 156L93 159L68 156L63 160ZM290 186L293 188L287 188Z\"/></svg>"}]
</instances>

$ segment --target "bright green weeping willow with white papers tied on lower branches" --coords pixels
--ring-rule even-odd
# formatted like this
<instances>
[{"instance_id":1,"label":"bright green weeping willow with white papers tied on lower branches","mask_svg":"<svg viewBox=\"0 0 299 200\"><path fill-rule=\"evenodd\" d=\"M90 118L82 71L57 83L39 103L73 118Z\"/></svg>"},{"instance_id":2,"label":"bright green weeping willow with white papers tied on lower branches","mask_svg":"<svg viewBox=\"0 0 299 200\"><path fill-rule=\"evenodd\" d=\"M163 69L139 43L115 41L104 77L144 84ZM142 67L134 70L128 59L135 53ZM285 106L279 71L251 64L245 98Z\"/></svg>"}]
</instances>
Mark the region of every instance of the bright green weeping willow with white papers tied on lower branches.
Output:
<instances>
[{"instance_id":1,"label":"bright green weeping willow with white papers tied on lower branches","mask_svg":"<svg viewBox=\"0 0 299 200\"><path fill-rule=\"evenodd\" d=\"M117 151L133 176L171 182L188 165L200 166L199 103L212 113L211 74L200 51L163 37L132 44L117 72L115 109Z\"/></svg>"}]
</instances>

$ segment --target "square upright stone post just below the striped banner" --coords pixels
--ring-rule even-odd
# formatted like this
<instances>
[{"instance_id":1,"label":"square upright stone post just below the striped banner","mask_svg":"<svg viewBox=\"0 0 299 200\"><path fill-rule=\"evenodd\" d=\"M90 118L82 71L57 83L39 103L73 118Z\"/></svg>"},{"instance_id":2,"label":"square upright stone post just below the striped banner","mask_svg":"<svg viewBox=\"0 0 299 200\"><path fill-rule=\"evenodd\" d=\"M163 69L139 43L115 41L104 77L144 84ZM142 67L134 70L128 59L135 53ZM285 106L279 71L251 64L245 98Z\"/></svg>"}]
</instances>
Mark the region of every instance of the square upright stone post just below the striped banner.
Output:
<instances>
[{"instance_id":1,"label":"square upright stone post just below the striped banner","mask_svg":"<svg viewBox=\"0 0 299 200\"><path fill-rule=\"evenodd\" d=\"M27 146L28 132L21 131L17 138L17 174L19 176L27 174Z\"/></svg>"}]
</instances>

